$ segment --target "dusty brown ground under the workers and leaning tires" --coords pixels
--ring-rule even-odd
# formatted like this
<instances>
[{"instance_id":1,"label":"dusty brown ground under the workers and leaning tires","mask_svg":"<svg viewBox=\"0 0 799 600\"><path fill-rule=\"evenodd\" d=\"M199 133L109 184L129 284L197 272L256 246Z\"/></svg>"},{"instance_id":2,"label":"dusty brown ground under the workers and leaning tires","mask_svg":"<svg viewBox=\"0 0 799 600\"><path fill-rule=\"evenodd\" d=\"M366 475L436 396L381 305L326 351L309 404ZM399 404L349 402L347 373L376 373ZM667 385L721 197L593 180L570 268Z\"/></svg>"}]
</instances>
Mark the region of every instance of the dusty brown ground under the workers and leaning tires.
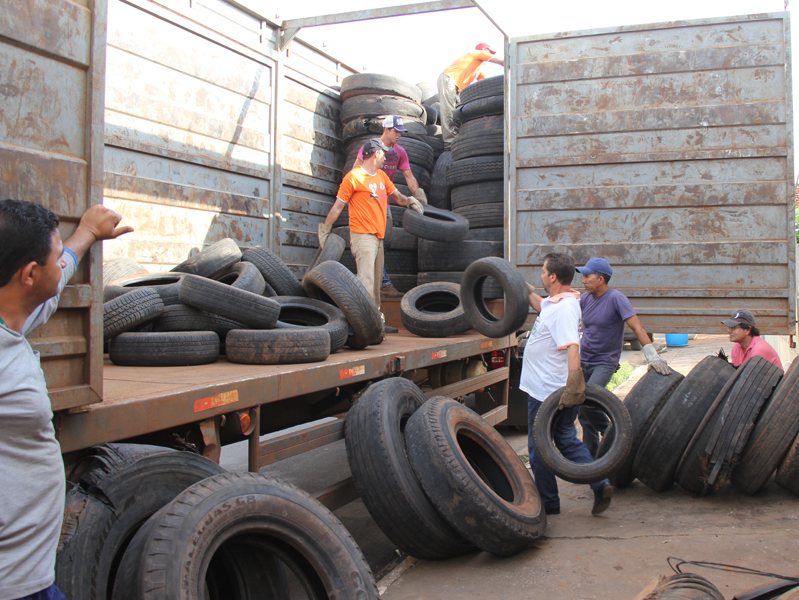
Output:
<instances>
[{"instance_id":1,"label":"dusty brown ground under the workers and leaning tires","mask_svg":"<svg viewBox=\"0 0 799 600\"><path fill-rule=\"evenodd\" d=\"M662 336L656 342L663 345ZM703 357L724 348L727 337L699 335L687 348L666 348L668 363L687 374ZM622 360L643 364L640 352ZM623 397L645 367L616 393ZM519 454L526 436L508 434ZM658 575L670 575L670 556L796 575L799 573L799 499L773 481L754 497L728 487L695 497L678 487L656 494L640 482L616 491L601 516L591 516L586 485L560 483L561 514L550 516L536 545L510 558L473 552L441 562L405 559L380 581L385 600L485 599L588 600L634 598ZM770 580L692 567L731 599Z\"/></svg>"}]
</instances>

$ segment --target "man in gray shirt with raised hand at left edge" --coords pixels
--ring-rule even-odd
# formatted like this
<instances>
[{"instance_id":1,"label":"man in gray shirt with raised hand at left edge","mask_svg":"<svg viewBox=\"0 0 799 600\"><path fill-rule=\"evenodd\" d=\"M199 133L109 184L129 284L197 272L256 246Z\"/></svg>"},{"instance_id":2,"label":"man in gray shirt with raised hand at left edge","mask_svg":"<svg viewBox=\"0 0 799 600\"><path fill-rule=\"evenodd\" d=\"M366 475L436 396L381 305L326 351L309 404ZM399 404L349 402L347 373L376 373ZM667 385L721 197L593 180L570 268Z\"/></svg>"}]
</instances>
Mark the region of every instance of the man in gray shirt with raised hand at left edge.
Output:
<instances>
[{"instance_id":1,"label":"man in gray shirt with raised hand at left edge","mask_svg":"<svg viewBox=\"0 0 799 600\"><path fill-rule=\"evenodd\" d=\"M39 353L25 335L56 311L94 242L133 231L117 227L121 219L93 206L62 244L51 211L0 202L0 600L64 598L53 585L64 464Z\"/></svg>"}]
</instances>

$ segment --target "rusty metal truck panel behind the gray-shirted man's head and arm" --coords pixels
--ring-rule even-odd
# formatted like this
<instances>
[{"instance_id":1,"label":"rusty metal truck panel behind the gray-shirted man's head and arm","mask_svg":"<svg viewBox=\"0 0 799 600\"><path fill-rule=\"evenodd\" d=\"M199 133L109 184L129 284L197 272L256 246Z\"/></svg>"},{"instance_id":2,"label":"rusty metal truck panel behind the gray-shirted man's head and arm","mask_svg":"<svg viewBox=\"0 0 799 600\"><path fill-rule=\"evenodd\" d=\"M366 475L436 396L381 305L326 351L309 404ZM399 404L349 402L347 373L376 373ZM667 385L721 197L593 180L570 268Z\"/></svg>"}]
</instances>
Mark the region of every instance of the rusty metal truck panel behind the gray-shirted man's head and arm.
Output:
<instances>
[{"instance_id":1,"label":"rusty metal truck panel behind the gray-shirted man's head and arm","mask_svg":"<svg viewBox=\"0 0 799 600\"><path fill-rule=\"evenodd\" d=\"M0 5L0 197L47 206L63 239L102 201L105 28L105 0ZM102 396L100 255L92 248L29 335L53 410Z\"/></svg>"}]
</instances>

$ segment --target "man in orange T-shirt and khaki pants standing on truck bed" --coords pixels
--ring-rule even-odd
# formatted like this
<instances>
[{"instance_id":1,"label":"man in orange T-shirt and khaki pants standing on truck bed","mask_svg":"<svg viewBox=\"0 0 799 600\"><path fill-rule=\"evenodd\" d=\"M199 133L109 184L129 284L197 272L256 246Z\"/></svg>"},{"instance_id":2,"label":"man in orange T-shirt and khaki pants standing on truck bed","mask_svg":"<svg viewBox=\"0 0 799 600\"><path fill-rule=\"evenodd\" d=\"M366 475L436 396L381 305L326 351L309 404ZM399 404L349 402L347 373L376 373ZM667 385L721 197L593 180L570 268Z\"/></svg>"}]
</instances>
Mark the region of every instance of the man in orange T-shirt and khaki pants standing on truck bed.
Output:
<instances>
[{"instance_id":1,"label":"man in orange T-shirt and khaki pants standing on truck bed","mask_svg":"<svg viewBox=\"0 0 799 600\"><path fill-rule=\"evenodd\" d=\"M394 183L381 170L386 152L380 138L363 145L363 164L344 176L324 223L319 224L319 247L323 248L333 223L346 204L350 216L350 250L355 257L358 280L380 308L380 285L383 282L383 237L386 233L388 197L400 206L407 206L424 214L421 202L402 195Z\"/></svg>"}]
</instances>

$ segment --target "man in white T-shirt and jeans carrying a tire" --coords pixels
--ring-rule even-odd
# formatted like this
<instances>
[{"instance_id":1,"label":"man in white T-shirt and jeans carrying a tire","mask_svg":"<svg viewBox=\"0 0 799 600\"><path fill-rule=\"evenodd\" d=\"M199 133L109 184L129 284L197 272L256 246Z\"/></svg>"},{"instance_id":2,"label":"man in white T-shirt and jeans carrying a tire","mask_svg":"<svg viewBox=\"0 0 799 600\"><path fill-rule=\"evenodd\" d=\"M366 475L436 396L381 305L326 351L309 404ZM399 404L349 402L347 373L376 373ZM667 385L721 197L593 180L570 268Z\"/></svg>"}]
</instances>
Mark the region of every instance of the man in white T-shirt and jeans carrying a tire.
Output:
<instances>
[{"instance_id":1,"label":"man in white T-shirt and jeans carrying a tire","mask_svg":"<svg viewBox=\"0 0 799 600\"><path fill-rule=\"evenodd\" d=\"M527 448L530 467L544 509L549 515L560 514L558 482L538 457L533 442L533 424L541 403L550 394L566 386L560 399L563 414L555 421L553 441L568 460L580 464L594 461L588 448L577 438L574 421L585 402L585 380L580 368L580 293L571 289L574 260L568 254L549 253L541 267L541 282L549 297L542 298L528 283L530 306L538 311L524 349L519 389L528 395ZM603 479L591 484L594 506L591 514L607 510L613 486Z\"/></svg>"}]
</instances>

